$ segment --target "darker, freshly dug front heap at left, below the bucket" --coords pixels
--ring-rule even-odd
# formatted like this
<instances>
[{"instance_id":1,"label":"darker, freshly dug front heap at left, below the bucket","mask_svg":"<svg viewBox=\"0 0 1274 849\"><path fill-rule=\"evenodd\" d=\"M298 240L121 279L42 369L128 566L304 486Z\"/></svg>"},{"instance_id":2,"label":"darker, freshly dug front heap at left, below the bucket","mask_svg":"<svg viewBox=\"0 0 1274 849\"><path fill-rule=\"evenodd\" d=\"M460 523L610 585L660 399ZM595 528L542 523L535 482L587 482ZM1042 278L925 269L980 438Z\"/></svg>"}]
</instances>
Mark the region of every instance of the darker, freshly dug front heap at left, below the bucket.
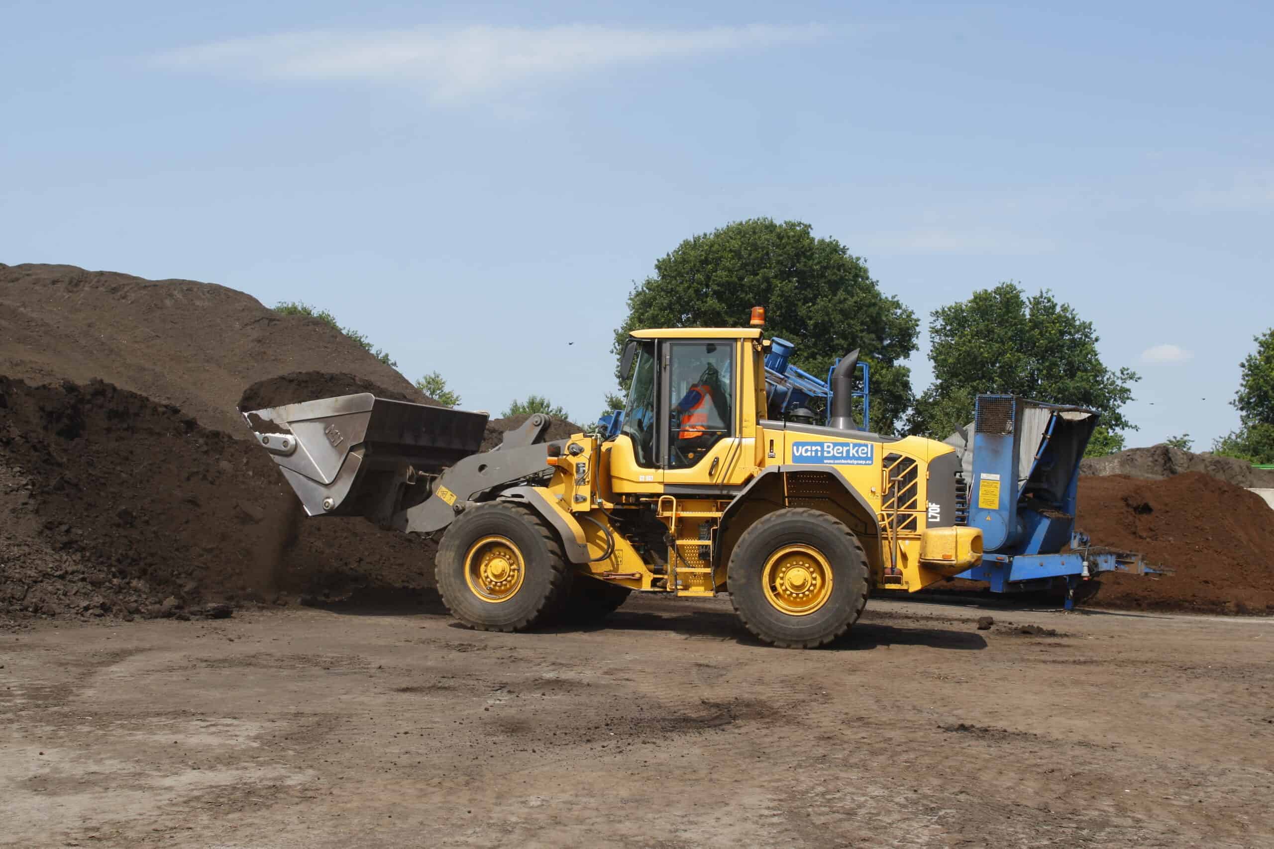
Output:
<instances>
[{"instance_id":1,"label":"darker, freshly dug front heap at left, below the bucket","mask_svg":"<svg viewBox=\"0 0 1274 849\"><path fill-rule=\"evenodd\" d=\"M175 406L0 378L0 612L187 615L432 586L432 542L304 519L265 452Z\"/></svg>"}]
</instances>

